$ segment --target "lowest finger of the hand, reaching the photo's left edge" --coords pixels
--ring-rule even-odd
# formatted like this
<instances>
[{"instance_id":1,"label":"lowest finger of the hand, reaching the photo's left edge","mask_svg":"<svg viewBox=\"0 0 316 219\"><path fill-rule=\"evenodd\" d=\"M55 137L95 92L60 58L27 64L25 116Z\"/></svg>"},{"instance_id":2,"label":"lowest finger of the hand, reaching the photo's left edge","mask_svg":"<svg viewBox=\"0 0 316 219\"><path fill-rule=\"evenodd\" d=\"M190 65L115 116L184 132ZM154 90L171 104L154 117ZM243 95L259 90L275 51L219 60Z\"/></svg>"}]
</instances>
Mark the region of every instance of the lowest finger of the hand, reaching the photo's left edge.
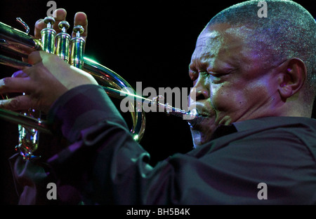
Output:
<instances>
[{"instance_id":1,"label":"lowest finger of the hand, reaching the photo's left edge","mask_svg":"<svg viewBox=\"0 0 316 219\"><path fill-rule=\"evenodd\" d=\"M11 111L24 111L32 107L32 99L27 95L0 100L0 108Z\"/></svg>"}]
</instances>

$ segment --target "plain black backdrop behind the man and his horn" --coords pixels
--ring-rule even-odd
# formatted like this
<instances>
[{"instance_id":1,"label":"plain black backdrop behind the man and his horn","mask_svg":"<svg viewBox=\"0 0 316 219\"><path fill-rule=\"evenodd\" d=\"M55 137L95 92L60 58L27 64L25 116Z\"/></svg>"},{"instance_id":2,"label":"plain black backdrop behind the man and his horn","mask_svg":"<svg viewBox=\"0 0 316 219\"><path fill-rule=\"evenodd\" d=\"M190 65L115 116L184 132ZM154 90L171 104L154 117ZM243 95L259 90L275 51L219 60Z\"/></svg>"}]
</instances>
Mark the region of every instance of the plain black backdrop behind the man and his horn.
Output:
<instances>
[{"instance_id":1,"label":"plain black backdrop behind the man and his horn","mask_svg":"<svg viewBox=\"0 0 316 219\"><path fill-rule=\"evenodd\" d=\"M15 28L15 17L29 24L46 17L48 1L1 0L0 21ZM197 36L213 15L241 1L55 1L67 10L73 25L74 14L88 15L86 56L119 73L133 87L191 87L187 74ZM207 2L207 3L206 3ZM316 17L313 1L296 1ZM16 71L0 66L1 78ZM114 100L116 102L116 100ZM315 114L315 113L314 113ZM124 118L129 120L129 115ZM192 148L190 129L180 118L164 113L147 113L141 145L152 155L152 164ZM1 204L17 204L8 157L15 153L18 127L0 120ZM41 134L41 150L48 150L51 137ZM48 148L47 148L48 147Z\"/></svg>"}]
</instances>

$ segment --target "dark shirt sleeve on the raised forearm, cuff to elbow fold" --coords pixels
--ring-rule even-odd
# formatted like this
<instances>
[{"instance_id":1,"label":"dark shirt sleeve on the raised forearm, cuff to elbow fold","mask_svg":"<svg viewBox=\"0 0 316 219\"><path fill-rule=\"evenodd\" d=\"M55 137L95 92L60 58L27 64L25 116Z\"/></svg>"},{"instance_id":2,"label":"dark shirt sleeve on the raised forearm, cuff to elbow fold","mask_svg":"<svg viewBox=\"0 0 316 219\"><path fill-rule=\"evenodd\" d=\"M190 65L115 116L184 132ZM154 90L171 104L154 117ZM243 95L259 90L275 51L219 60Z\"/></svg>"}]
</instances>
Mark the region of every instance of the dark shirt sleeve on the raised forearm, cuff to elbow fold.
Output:
<instances>
[{"instance_id":1,"label":"dark shirt sleeve on the raised forearm, cuff to elbow fold","mask_svg":"<svg viewBox=\"0 0 316 219\"><path fill-rule=\"evenodd\" d=\"M138 192L152 171L150 155L102 87L70 90L55 102L48 121L70 142L48 160L61 184L76 187L86 204L143 204Z\"/></svg>"}]
</instances>

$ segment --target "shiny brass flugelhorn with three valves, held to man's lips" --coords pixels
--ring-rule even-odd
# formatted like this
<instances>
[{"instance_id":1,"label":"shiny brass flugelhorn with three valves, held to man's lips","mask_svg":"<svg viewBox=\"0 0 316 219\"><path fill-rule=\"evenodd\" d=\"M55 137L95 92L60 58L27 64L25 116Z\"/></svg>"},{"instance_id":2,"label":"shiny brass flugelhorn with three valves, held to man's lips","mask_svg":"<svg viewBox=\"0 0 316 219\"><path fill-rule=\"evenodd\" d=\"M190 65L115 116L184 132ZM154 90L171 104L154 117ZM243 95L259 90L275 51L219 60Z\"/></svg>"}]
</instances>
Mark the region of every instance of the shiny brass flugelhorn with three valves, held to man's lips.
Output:
<instances>
[{"instance_id":1,"label":"shiny brass flugelhorn with three valves, held to man's lips","mask_svg":"<svg viewBox=\"0 0 316 219\"><path fill-rule=\"evenodd\" d=\"M0 48L1 51L10 52L15 55L15 57L27 58L29 53L35 50L44 50L46 52L55 53L60 58L64 59L65 62L69 62L72 66L82 69L91 74L99 83L103 86L105 91L110 97L123 99L126 95L131 97L137 97L140 101L150 101L152 104L156 104L159 108L164 108L166 112L171 115L190 115L192 118L197 117L196 113L185 112L178 108L173 108L168 104L161 104L157 99L150 100L144 97L139 97L133 87L119 76L114 71L108 69L106 66L99 64L98 62L84 57L84 44L85 41L81 38L81 34L84 31L83 27L76 26L73 31L76 33L74 38L67 34L67 29L70 25L62 21L58 24L61 29L59 34L56 34L53 29L53 23L55 22L53 17L46 17L44 22L47 27L41 31L41 39L34 38L29 34L29 27L20 18L17 18L18 22L22 24L25 28L24 31L15 29L7 24L0 22ZM57 45L55 47L55 45ZM6 55L0 54L0 64L7 66L12 66L15 69L22 69L25 66L30 66L26 62L22 62L19 59L14 59ZM145 132L145 113L144 111L139 111L139 106L135 102L131 104L131 118L132 127L131 134L133 139L140 141ZM19 136L19 150L21 155L26 159L34 157L33 152L37 150L38 144L38 133L47 132L50 130L48 128L48 123L41 118L34 117L31 109L31 113L16 113L13 111L6 111L0 109L0 118L6 119L10 122L15 122L21 126L20 136ZM194 122L195 120L190 120Z\"/></svg>"}]
</instances>

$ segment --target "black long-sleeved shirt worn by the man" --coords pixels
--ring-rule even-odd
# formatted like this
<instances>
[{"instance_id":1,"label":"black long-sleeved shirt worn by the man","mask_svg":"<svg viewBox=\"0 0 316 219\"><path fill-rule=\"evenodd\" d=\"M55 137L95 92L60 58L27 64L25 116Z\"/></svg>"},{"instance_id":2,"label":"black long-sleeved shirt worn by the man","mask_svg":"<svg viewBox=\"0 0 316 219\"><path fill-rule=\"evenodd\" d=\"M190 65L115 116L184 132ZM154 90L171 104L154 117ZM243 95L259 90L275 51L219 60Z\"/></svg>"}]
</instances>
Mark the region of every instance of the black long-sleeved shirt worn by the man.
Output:
<instances>
[{"instance_id":1,"label":"black long-sleeved shirt worn by the man","mask_svg":"<svg viewBox=\"0 0 316 219\"><path fill-rule=\"evenodd\" d=\"M316 204L316 121L310 118L218 127L209 143L152 167L97 85L70 90L49 116L70 146L47 161L46 174L58 190L74 188L68 191L85 204Z\"/></svg>"}]
</instances>

